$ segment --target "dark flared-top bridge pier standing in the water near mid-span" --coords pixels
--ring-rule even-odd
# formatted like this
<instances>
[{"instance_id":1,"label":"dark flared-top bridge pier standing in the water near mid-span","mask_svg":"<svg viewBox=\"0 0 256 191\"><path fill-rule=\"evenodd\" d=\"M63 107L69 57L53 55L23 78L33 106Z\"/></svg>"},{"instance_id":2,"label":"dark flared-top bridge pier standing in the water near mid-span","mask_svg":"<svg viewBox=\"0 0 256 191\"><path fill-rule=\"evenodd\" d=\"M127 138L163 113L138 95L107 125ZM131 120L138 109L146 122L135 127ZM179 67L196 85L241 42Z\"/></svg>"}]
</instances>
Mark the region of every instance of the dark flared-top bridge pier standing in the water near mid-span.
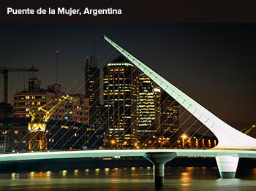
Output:
<instances>
[{"instance_id":1,"label":"dark flared-top bridge pier standing in the water near mid-span","mask_svg":"<svg viewBox=\"0 0 256 191\"><path fill-rule=\"evenodd\" d=\"M164 185L165 163L176 157L176 152L146 152L144 157L154 165L154 186Z\"/></svg>"}]
</instances>

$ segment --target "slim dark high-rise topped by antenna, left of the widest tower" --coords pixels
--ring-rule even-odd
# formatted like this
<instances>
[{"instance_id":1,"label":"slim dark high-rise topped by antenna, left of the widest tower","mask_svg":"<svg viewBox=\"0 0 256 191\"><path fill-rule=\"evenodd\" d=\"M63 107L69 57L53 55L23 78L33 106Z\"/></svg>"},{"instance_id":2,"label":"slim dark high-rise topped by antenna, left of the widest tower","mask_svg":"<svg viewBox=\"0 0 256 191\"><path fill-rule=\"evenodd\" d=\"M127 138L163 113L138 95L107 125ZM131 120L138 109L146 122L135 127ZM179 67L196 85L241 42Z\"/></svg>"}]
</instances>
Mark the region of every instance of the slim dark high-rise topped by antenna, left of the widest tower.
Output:
<instances>
[{"instance_id":1,"label":"slim dark high-rise topped by antenna, left of the widest tower","mask_svg":"<svg viewBox=\"0 0 256 191\"><path fill-rule=\"evenodd\" d=\"M99 122L99 68L97 59L93 56L86 57L85 66L85 97L89 98L90 125L97 128Z\"/></svg>"}]
</instances>

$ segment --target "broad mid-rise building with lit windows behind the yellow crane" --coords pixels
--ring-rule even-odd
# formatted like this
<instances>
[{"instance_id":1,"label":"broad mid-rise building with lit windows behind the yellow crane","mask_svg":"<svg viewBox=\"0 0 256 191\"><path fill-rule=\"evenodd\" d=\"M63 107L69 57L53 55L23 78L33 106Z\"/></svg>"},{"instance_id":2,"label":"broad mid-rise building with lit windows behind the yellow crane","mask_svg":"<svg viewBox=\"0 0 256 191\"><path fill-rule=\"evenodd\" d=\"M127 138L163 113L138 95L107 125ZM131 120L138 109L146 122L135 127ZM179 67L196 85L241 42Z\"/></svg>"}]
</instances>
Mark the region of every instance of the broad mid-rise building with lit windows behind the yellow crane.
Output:
<instances>
[{"instance_id":1,"label":"broad mid-rise building with lit windows behind the yellow crane","mask_svg":"<svg viewBox=\"0 0 256 191\"><path fill-rule=\"evenodd\" d=\"M29 92L22 91L14 95L13 116L29 118L29 109L37 109L39 106L43 106L54 99L56 101L46 105L44 109L50 110L50 108L55 106L58 103L59 96L61 96L61 94L59 94L60 85L56 84L49 87L50 89L42 89L40 88L39 79L29 79ZM83 95L80 94L72 95L72 97L78 101L75 103L73 101L66 101L50 119L77 121L89 125L89 98L84 98ZM39 112L39 114L45 113Z\"/></svg>"}]
</instances>

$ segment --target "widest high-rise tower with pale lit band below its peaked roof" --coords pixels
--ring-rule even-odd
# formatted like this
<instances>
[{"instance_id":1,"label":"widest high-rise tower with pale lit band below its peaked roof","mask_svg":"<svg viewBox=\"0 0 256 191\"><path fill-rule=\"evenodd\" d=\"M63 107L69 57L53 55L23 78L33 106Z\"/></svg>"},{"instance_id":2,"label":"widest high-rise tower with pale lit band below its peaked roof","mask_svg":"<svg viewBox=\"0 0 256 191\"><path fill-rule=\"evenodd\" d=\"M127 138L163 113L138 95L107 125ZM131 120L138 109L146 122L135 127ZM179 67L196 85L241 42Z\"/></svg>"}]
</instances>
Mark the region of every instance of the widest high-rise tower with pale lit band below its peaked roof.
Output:
<instances>
[{"instance_id":1,"label":"widest high-rise tower with pale lit band below its peaked roof","mask_svg":"<svg viewBox=\"0 0 256 191\"><path fill-rule=\"evenodd\" d=\"M104 68L106 144L130 147L136 139L137 69L119 56Z\"/></svg>"}]
</instances>

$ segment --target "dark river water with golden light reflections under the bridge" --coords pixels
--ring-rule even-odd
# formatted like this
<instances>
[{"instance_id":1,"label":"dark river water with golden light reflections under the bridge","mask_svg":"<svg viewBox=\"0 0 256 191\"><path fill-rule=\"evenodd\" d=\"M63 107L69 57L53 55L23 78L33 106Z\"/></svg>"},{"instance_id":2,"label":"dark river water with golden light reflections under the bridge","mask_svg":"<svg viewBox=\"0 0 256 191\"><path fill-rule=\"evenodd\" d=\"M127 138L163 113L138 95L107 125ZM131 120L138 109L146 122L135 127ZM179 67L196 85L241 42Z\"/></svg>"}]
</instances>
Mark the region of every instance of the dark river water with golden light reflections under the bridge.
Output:
<instances>
[{"instance_id":1,"label":"dark river water with golden light reflections under the bridge","mask_svg":"<svg viewBox=\"0 0 256 191\"><path fill-rule=\"evenodd\" d=\"M219 179L218 169L166 167L165 186L153 186L153 168L95 168L0 174L0 190L256 190L256 168L236 179Z\"/></svg>"}]
</instances>

